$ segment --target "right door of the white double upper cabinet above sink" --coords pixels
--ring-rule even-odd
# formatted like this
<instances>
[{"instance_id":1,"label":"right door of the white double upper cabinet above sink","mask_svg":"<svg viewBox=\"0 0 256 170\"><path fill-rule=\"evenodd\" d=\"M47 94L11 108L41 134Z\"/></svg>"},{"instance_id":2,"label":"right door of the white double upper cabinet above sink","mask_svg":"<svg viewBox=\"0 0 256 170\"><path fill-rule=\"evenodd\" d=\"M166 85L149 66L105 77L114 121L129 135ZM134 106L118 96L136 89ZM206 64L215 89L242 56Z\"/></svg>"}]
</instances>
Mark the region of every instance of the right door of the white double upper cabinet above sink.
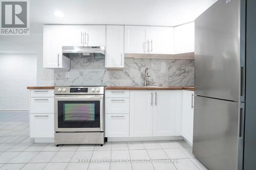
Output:
<instances>
[{"instance_id":1,"label":"right door of the white double upper cabinet above sink","mask_svg":"<svg viewBox=\"0 0 256 170\"><path fill-rule=\"evenodd\" d=\"M151 27L150 53L174 54L174 28Z\"/></svg>"}]
</instances>

